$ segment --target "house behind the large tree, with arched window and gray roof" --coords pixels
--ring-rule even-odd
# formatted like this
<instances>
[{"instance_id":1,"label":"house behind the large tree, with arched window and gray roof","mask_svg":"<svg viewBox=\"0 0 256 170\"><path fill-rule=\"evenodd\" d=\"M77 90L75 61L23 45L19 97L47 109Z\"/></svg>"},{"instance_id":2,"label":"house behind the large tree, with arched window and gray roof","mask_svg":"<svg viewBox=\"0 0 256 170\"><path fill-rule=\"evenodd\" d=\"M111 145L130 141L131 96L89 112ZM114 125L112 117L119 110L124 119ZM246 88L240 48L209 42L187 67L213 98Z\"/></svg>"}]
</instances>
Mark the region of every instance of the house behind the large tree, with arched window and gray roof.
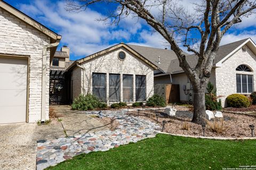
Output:
<instances>
[{"instance_id":1,"label":"house behind the large tree, with arched window and gray roof","mask_svg":"<svg viewBox=\"0 0 256 170\"><path fill-rule=\"evenodd\" d=\"M226 98L228 95L250 95L256 89L256 80L254 80L254 77L256 77L255 54L256 45L250 38L220 46L213 63L210 81L217 88L217 96L222 100L222 107L227 106ZM157 60L157 58L158 56L155 56L154 60ZM162 70L162 73L155 74L155 84L179 84L180 100L193 101L193 90L189 79L179 66L177 57L173 58L175 57L161 56L161 63L164 64L156 64L159 70ZM197 57L187 55L186 58L189 65L194 68Z\"/></svg>"}]
</instances>

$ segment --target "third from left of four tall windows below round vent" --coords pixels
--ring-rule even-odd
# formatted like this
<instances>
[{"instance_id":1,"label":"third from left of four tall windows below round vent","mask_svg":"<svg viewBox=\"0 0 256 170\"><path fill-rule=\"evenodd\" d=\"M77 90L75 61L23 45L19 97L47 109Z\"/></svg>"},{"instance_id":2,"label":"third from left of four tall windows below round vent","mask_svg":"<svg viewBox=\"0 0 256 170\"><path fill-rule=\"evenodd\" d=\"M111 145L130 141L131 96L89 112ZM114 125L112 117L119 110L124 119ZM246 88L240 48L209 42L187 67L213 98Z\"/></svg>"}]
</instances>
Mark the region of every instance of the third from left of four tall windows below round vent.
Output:
<instances>
[{"instance_id":1,"label":"third from left of four tall windows below round vent","mask_svg":"<svg viewBox=\"0 0 256 170\"><path fill-rule=\"evenodd\" d=\"M132 102L133 101L133 76L123 74L123 101Z\"/></svg>"}]
</instances>

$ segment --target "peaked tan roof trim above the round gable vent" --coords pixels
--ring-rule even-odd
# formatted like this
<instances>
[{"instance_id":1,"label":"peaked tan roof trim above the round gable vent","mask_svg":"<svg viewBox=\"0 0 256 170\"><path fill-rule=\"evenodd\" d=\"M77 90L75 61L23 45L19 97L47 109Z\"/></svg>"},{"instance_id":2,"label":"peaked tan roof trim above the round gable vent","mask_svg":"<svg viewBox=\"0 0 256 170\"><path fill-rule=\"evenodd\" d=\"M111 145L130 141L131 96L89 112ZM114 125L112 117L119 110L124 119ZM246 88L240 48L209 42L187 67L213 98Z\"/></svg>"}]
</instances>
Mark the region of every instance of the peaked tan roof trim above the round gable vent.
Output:
<instances>
[{"instance_id":1,"label":"peaked tan roof trim above the round gable vent","mask_svg":"<svg viewBox=\"0 0 256 170\"><path fill-rule=\"evenodd\" d=\"M133 50L131 47L127 46L126 44L124 43L120 43L120 44L117 44L117 45L114 45L114 46L111 46L107 49L104 49L104 50L101 50L100 52L97 52L97 53L94 53L92 55L89 55L87 57L84 57L80 60L77 60L77 63L83 63L83 62L86 62L86 61L89 61L91 60L92 58L95 58L95 57L98 57L98 56L101 56L103 54L106 54L108 52L111 52L115 49L118 49L118 48L125 48L126 50L128 50L129 52L131 52L134 56L140 58L142 61L144 61L145 63L147 63L148 65L150 65L151 67L153 67L155 70L158 69L157 65L153 62L151 62L150 60L148 60L146 57L142 56L141 54L139 54L137 51ZM70 65L70 67L73 66L73 65Z\"/></svg>"}]
</instances>

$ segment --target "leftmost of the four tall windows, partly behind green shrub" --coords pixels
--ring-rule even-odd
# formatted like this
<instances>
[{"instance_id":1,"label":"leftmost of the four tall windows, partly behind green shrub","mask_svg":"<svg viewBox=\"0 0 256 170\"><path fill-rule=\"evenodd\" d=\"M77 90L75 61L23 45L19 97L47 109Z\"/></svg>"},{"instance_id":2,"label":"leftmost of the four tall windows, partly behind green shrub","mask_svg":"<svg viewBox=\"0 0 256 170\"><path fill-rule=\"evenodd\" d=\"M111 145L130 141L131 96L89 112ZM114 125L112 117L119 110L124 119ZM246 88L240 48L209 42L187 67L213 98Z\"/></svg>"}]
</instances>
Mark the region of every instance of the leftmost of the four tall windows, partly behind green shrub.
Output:
<instances>
[{"instance_id":1,"label":"leftmost of the four tall windows, partly behind green shrub","mask_svg":"<svg viewBox=\"0 0 256 170\"><path fill-rule=\"evenodd\" d=\"M106 74L92 73L92 94L106 102L106 93Z\"/></svg>"}]
</instances>

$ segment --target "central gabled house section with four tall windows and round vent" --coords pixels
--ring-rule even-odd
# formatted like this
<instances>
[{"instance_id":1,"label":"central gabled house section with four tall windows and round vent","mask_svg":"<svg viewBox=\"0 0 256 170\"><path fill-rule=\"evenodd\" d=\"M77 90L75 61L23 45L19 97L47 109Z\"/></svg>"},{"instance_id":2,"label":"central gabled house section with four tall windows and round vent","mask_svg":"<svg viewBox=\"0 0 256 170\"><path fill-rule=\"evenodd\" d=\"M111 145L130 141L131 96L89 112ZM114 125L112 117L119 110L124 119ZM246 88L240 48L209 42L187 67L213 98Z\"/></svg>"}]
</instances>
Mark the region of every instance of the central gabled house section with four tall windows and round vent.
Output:
<instances>
[{"instance_id":1,"label":"central gabled house section with four tall windows and round vent","mask_svg":"<svg viewBox=\"0 0 256 170\"><path fill-rule=\"evenodd\" d=\"M94 94L108 104L146 101L154 94L157 66L126 44L92 54L74 62L71 72L73 100Z\"/></svg>"}]
</instances>

